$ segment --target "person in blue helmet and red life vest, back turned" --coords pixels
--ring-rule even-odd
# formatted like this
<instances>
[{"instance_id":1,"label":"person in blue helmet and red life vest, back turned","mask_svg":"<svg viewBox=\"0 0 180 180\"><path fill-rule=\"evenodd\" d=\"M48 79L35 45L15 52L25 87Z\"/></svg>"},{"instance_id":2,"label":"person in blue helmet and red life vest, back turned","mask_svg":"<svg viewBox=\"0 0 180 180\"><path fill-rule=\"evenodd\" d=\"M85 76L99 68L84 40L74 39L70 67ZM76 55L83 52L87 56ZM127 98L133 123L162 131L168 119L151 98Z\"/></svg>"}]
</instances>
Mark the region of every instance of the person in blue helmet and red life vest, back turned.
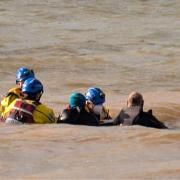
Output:
<instances>
[{"instance_id":1,"label":"person in blue helmet and red life vest, back turned","mask_svg":"<svg viewBox=\"0 0 180 180\"><path fill-rule=\"evenodd\" d=\"M35 78L28 78L22 85L23 98L16 98L1 116L1 121L8 124L54 123L55 115L51 108L41 104L42 83Z\"/></svg>"}]
</instances>

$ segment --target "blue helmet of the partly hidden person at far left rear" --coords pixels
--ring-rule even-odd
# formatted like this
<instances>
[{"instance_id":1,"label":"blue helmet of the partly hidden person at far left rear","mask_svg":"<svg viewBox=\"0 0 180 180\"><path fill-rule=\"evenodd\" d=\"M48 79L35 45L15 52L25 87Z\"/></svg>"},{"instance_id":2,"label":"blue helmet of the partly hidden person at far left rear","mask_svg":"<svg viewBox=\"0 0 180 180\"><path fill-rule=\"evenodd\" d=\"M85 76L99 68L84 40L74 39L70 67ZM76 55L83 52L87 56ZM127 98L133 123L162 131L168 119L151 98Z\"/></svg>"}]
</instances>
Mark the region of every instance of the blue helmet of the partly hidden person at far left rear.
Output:
<instances>
[{"instance_id":1,"label":"blue helmet of the partly hidden person at far left rear","mask_svg":"<svg viewBox=\"0 0 180 180\"><path fill-rule=\"evenodd\" d=\"M26 67L20 67L16 71L16 83L19 81L25 81L28 78L34 77L34 72L32 69L28 69Z\"/></svg>"}]
</instances>

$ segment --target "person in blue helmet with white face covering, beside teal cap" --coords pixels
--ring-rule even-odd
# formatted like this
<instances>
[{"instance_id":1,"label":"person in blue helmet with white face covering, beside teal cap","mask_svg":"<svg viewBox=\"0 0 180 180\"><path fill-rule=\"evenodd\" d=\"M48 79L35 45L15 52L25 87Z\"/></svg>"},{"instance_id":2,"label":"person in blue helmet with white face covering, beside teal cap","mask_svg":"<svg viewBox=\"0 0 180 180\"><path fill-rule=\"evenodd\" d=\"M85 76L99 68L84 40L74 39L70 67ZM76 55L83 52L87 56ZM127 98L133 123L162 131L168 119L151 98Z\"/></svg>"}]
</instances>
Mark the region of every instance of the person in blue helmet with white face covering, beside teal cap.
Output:
<instances>
[{"instance_id":1,"label":"person in blue helmet with white face covering, beside teal cap","mask_svg":"<svg viewBox=\"0 0 180 180\"><path fill-rule=\"evenodd\" d=\"M86 93L86 107L99 120L100 124L112 124L109 109L104 106L105 93L98 87L90 87Z\"/></svg>"}]
</instances>

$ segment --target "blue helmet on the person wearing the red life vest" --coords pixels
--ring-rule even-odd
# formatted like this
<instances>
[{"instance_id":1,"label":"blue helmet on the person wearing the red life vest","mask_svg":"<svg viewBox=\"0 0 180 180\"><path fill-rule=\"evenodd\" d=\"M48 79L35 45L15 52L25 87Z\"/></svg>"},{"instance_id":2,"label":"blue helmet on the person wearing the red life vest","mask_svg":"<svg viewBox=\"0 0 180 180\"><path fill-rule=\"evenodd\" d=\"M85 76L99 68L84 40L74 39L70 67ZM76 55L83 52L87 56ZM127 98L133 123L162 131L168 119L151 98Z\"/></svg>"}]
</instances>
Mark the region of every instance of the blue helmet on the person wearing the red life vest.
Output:
<instances>
[{"instance_id":1,"label":"blue helmet on the person wearing the red life vest","mask_svg":"<svg viewBox=\"0 0 180 180\"><path fill-rule=\"evenodd\" d=\"M43 85L38 79L29 78L25 80L22 86L22 92L27 94L37 94L43 92Z\"/></svg>"}]
</instances>

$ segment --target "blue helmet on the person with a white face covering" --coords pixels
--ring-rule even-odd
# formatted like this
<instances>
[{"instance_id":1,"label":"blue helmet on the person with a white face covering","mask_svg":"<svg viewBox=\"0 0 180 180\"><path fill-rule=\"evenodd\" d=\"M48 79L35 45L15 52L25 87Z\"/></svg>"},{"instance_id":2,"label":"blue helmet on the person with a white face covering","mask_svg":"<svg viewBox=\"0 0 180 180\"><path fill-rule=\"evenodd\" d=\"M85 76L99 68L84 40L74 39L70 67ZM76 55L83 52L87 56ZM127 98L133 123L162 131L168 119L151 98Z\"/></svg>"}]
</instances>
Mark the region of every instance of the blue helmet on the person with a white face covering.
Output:
<instances>
[{"instance_id":1,"label":"blue helmet on the person with a white face covering","mask_svg":"<svg viewBox=\"0 0 180 180\"><path fill-rule=\"evenodd\" d=\"M91 101L93 104L98 105L98 104L103 104L105 102L105 94L104 92L97 87L90 87L86 91L86 100Z\"/></svg>"}]
</instances>

